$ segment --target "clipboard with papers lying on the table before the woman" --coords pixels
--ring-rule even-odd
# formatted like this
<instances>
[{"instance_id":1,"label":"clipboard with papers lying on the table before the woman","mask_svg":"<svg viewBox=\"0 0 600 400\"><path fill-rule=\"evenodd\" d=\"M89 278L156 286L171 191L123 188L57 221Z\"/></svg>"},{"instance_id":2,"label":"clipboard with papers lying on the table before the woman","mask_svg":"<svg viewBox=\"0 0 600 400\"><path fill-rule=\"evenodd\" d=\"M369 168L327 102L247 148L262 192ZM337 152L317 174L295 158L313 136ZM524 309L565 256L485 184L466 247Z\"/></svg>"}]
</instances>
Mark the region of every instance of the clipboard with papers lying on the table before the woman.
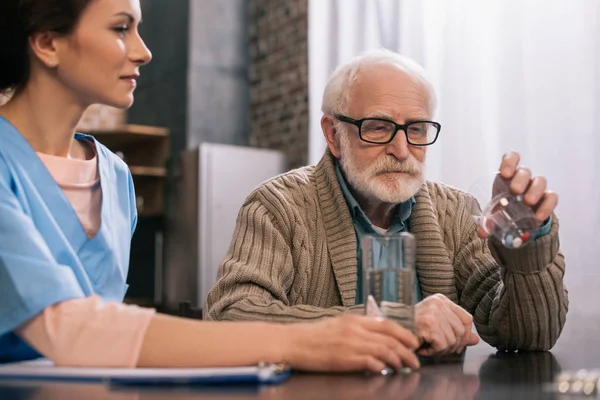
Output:
<instances>
[{"instance_id":1,"label":"clipboard with papers lying on the table before the woman","mask_svg":"<svg viewBox=\"0 0 600 400\"><path fill-rule=\"evenodd\" d=\"M118 386L275 385L291 374L284 365L265 363L223 368L88 368L57 367L52 361L38 359L0 364L0 381L102 382Z\"/></svg>"}]
</instances>

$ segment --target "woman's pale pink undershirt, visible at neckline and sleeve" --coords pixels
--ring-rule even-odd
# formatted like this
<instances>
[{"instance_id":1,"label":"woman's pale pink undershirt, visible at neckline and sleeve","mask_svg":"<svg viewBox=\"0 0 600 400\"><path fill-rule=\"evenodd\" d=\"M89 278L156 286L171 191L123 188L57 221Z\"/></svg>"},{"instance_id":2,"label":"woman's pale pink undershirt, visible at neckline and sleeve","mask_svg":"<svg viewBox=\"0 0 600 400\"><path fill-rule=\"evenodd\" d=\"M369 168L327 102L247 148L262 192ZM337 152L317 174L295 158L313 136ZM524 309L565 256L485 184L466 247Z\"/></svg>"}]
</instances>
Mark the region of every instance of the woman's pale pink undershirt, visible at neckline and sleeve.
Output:
<instances>
[{"instance_id":1,"label":"woman's pale pink undershirt, visible at neckline and sleeve","mask_svg":"<svg viewBox=\"0 0 600 400\"><path fill-rule=\"evenodd\" d=\"M63 189L88 238L94 237L102 205L97 157L82 161L38 156ZM57 365L135 367L154 314L153 309L108 303L94 295L46 307L16 333Z\"/></svg>"}]
</instances>

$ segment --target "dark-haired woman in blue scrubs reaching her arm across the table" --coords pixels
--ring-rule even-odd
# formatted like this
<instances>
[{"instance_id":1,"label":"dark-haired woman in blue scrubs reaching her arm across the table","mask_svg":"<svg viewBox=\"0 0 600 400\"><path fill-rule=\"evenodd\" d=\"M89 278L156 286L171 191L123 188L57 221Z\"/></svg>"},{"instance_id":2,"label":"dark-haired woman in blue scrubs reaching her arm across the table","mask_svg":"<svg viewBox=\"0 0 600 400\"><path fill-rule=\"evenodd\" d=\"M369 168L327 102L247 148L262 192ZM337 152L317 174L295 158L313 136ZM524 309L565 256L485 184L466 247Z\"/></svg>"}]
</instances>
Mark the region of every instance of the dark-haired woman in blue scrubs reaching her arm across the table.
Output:
<instances>
[{"instance_id":1,"label":"dark-haired woman in blue scrubs reaching her arm across the table","mask_svg":"<svg viewBox=\"0 0 600 400\"><path fill-rule=\"evenodd\" d=\"M194 367L286 362L319 371L418 367L417 339L376 318L202 322L122 303L134 187L75 133L94 103L128 108L151 59L139 0L0 2L0 362Z\"/></svg>"}]
</instances>

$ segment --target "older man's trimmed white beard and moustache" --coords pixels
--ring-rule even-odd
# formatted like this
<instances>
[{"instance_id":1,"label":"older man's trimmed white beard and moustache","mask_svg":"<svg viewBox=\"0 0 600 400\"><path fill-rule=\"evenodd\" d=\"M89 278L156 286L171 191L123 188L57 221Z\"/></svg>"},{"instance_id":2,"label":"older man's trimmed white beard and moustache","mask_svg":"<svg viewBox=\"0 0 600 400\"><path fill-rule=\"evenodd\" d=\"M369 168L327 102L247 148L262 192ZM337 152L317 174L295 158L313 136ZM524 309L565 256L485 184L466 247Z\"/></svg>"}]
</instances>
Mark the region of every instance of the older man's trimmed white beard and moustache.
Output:
<instances>
[{"instance_id":1,"label":"older man's trimmed white beard and moustache","mask_svg":"<svg viewBox=\"0 0 600 400\"><path fill-rule=\"evenodd\" d=\"M352 188L367 198L375 198L384 203L399 204L413 197L424 178L424 163L411 154L404 161L383 154L371 165L359 165L350 141L345 134L340 138L340 166ZM385 172L402 172L389 174Z\"/></svg>"}]
</instances>

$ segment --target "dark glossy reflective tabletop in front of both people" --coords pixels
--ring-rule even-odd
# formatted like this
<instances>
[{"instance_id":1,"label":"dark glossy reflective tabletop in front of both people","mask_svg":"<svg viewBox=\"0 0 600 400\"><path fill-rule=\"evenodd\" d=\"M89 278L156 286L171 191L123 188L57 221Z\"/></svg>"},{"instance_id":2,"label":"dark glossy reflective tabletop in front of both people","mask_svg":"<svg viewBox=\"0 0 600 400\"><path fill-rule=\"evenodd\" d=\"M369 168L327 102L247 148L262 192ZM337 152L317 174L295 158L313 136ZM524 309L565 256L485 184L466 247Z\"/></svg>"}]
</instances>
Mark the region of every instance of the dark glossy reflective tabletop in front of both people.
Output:
<instances>
[{"instance_id":1,"label":"dark glossy reflective tabletop in front of both people","mask_svg":"<svg viewBox=\"0 0 600 400\"><path fill-rule=\"evenodd\" d=\"M212 389L0 381L0 399L565 399L545 390L558 372L600 367L600 315L569 314L567 319L551 352L496 353L479 344L468 349L463 361L426 365L408 375L295 374L279 386Z\"/></svg>"}]
</instances>

